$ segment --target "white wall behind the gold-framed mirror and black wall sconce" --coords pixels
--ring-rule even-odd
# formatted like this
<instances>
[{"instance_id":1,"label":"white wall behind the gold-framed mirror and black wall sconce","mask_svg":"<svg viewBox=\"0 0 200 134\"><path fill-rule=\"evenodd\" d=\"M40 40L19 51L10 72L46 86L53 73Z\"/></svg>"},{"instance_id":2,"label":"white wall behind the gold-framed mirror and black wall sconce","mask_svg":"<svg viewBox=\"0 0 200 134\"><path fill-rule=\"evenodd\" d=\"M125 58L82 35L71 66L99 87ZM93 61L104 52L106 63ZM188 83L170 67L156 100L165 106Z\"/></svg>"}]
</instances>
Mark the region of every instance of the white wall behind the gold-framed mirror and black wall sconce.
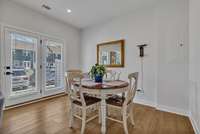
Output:
<instances>
[{"instance_id":1,"label":"white wall behind the gold-framed mirror and black wall sconce","mask_svg":"<svg viewBox=\"0 0 200 134\"><path fill-rule=\"evenodd\" d=\"M140 71L139 49L137 45L147 43L144 59L144 89L145 94L138 99L155 102L155 69L156 69L156 44L154 28L154 10L138 10L107 23L92 26L82 31L82 68L88 71L96 63L96 44L125 39L125 68L120 68L122 78L127 79L131 72ZM140 85L140 84L139 84Z\"/></svg>"}]
</instances>

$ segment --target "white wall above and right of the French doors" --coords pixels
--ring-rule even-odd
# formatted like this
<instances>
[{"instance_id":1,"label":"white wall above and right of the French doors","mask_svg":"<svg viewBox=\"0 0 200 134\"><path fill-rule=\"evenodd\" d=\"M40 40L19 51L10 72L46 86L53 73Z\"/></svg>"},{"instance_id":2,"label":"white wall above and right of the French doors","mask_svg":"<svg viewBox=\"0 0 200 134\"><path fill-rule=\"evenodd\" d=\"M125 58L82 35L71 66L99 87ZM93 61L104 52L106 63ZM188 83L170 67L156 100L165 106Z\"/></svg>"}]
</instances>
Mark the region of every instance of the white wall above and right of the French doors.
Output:
<instances>
[{"instance_id":1,"label":"white wall above and right of the French doors","mask_svg":"<svg viewBox=\"0 0 200 134\"><path fill-rule=\"evenodd\" d=\"M79 68L79 29L58 22L10 0L0 0L0 23L55 36L65 40L65 70Z\"/></svg>"}]
</instances>

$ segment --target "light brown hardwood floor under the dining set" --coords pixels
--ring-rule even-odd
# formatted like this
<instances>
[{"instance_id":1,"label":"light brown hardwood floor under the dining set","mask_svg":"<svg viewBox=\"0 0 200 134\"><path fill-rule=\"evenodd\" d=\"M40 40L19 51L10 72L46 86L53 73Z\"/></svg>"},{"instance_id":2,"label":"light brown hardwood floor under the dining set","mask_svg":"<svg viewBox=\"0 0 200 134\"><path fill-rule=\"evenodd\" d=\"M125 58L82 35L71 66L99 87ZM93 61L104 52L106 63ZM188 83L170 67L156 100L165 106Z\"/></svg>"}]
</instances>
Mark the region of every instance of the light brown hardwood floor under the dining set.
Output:
<instances>
[{"instance_id":1,"label":"light brown hardwood floor under the dining set","mask_svg":"<svg viewBox=\"0 0 200 134\"><path fill-rule=\"evenodd\" d=\"M59 97L4 112L0 134L79 134L81 123L68 128L67 97ZM129 123L130 134L194 134L187 117L157 111L135 104L136 126ZM108 121L108 134L123 134L121 124ZM98 119L86 125L85 134L100 134Z\"/></svg>"}]
</instances>

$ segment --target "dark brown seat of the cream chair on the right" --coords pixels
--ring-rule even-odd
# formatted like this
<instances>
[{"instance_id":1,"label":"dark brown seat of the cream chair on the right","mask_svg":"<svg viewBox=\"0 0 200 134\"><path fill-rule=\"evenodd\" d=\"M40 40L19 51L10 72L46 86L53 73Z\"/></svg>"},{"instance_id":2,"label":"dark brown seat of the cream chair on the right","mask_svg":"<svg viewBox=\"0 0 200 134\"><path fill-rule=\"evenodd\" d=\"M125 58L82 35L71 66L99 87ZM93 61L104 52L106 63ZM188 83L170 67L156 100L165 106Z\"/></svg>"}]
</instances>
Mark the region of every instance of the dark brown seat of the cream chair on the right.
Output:
<instances>
[{"instance_id":1,"label":"dark brown seat of the cream chair on the right","mask_svg":"<svg viewBox=\"0 0 200 134\"><path fill-rule=\"evenodd\" d=\"M125 101L125 97L114 95L106 100L106 103L109 105L114 105L118 107L122 107Z\"/></svg>"}]
</instances>

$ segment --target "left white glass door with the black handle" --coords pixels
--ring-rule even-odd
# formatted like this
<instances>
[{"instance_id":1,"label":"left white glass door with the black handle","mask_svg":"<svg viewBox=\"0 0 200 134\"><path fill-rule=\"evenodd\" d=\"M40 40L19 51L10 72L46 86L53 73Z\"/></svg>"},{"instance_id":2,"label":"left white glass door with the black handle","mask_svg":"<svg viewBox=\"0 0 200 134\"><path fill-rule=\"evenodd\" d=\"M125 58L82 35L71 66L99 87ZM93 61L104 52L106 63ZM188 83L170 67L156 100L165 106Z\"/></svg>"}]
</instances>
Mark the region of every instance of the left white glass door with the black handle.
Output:
<instances>
[{"instance_id":1,"label":"left white glass door with the black handle","mask_svg":"<svg viewBox=\"0 0 200 134\"><path fill-rule=\"evenodd\" d=\"M39 97L39 37L9 28L5 28L4 33L6 104L13 105Z\"/></svg>"}]
</instances>

